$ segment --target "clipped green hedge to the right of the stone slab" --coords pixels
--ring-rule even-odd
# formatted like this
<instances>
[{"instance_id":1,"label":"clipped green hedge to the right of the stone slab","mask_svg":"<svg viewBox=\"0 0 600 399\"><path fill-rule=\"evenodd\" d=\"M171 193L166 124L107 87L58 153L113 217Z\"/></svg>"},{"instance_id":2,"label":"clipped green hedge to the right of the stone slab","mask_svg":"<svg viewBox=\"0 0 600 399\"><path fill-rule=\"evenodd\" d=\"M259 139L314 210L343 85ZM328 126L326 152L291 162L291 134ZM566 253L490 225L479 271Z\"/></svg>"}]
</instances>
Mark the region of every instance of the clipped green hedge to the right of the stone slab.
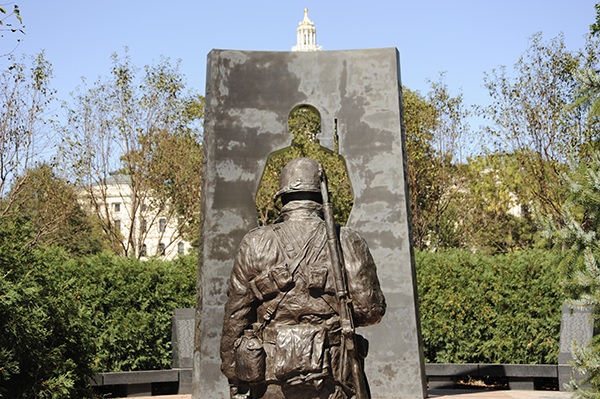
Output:
<instances>
[{"instance_id":1,"label":"clipped green hedge to the right of the stone slab","mask_svg":"<svg viewBox=\"0 0 600 399\"><path fill-rule=\"evenodd\" d=\"M556 363L563 301L557 261L542 250L417 252L426 360Z\"/></svg>"}]
</instances>

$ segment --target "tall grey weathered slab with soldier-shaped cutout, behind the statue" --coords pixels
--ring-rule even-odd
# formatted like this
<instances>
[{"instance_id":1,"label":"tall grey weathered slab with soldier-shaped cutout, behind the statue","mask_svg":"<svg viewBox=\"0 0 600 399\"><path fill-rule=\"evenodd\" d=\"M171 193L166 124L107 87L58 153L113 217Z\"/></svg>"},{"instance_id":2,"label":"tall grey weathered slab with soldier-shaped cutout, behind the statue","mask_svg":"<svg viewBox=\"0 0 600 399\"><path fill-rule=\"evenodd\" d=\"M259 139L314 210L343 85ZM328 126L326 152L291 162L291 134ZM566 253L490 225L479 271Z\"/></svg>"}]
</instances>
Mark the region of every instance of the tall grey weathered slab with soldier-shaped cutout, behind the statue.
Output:
<instances>
[{"instance_id":1,"label":"tall grey weathered slab with soldier-shaped cutout, behind the statue","mask_svg":"<svg viewBox=\"0 0 600 399\"><path fill-rule=\"evenodd\" d=\"M290 111L314 106L321 144L334 132L354 190L348 226L367 241L388 302L366 372L374 398L425 397L408 223L398 53L213 50L204 124L204 225L194 351L195 399L228 397L219 373L226 282L243 235L256 227L254 196L268 155L291 142Z\"/></svg>"}]
</instances>

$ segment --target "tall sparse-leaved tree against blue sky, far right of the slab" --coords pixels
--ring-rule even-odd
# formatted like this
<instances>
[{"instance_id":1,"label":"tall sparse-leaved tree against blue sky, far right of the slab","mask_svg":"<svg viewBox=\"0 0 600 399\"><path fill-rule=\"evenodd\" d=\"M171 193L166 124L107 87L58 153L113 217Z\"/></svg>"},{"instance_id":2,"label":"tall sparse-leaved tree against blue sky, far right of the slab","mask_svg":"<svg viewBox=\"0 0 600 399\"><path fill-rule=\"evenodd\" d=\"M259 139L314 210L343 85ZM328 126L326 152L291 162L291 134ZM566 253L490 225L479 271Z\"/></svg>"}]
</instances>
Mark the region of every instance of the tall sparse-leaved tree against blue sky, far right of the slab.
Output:
<instances>
[{"instance_id":1,"label":"tall sparse-leaved tree against blue sky, far right of the slab","mask_svg":"<svg viewBox=\"0 0 600 399\"><path fill-rule=\"evenodd\" d=\"M566 49L562 35L545 42L538 33L515 64L514 77L501 67L484 79L492 104L482 115L492 122L486 132L493 149L515 155L527 188L524 201L556 220L563 201L558 184L563 165L594 132L585 110L572 107L581 62L580 54Z\"/></svg>"}]
</instances>

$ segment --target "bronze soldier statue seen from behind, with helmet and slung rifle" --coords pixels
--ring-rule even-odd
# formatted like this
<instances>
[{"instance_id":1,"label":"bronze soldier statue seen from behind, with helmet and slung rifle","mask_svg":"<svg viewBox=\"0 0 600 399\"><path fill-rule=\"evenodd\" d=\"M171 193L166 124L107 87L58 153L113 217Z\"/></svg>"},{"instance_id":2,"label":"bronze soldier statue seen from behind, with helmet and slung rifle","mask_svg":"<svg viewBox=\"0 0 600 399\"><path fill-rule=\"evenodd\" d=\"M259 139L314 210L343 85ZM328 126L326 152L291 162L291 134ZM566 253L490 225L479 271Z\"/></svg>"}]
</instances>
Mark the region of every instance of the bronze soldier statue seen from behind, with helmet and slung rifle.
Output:
<instances>
[{"instance_id":1,"label":"bronze soldier statue seen from behind, with helmet and slung rifle","mask_svg":"<svg viewBox=\"0 0 600 399\"><path fill-rule=\"evenodd\" d=\"M221 370L232 398L369 399L368 342L354 328L385 313L366 242L333 222L321 165L279 179L277 221L240 243L228 288Z\"/></svg>"}]
</instances>

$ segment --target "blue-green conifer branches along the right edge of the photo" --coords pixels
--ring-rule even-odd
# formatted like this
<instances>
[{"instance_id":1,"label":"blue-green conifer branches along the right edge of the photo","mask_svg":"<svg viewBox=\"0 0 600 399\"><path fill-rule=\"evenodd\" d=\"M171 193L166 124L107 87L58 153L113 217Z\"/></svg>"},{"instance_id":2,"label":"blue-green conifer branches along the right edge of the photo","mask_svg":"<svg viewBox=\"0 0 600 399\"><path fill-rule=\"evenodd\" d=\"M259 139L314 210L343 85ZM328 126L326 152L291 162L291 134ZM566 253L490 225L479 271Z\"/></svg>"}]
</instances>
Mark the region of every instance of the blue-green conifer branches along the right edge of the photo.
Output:
<instances>
[{"instance_id":1,"label":"blue-green conifer branches along the right edge of the photo","mask_svg":"<svg viewBox=\"0 0 600 399\"><path fill-rule=\"evenodd\" d=\"M590 29L598 37L600 3L596 4L596 23ZM587 43L586 64L576 74L578 98L576 106L587 107L588 121L597 126L600 119L600 78L596 45ZM560 223L548 220L545 233L564 253L572 272L567 281L569 293L576 305L600 305L600 148L597 137L584 146L583 154L570 162L570 170L562 176L568 188L561 208ZM586 151L587 150L587 151ZM595 336L588 345L573 343L575 366L583 380L573 379L571 388L578 399L600 397L600 338Z\"/></svg>"}]
</instances>

